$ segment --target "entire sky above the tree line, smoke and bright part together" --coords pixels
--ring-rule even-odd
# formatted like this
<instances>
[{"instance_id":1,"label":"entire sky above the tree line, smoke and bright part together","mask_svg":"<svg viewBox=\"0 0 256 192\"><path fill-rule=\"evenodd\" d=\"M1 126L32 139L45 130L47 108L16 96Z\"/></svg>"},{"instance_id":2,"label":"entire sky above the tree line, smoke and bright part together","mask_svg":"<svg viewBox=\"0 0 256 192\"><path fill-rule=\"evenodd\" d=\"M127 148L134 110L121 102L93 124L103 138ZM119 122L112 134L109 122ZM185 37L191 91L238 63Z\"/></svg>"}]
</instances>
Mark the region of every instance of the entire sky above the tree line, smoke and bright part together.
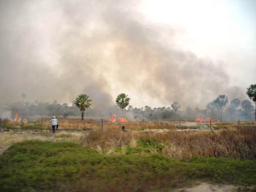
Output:
<instances>
[{"instance_id":1,"label":"entire sky above the tree line, smoke and bright part together","mask_svg":"<svg viewBox=\"0 0 256 192\"><path fill-rule=\"evenodd\" d=\"M205 107L256 83L255 0L1 0L1 103Z\"/></svg>"}]
</instances>

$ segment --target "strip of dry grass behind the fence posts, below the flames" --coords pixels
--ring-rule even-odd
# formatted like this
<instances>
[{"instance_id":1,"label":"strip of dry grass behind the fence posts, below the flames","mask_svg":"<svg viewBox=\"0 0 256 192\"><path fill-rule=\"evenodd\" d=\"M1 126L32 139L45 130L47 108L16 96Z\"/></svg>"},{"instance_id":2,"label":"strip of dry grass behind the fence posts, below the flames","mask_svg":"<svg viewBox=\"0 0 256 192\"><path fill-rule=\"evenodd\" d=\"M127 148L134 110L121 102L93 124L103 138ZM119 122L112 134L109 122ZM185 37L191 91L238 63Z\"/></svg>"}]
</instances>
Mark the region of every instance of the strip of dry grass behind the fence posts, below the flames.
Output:
<instances>
[{"instance_id":1,"label":"strip of dry grass behind the fence posts, below the flames","mask_svg":"<svg viewBox=\"0 0 256 192\"><path fill-rule=\"evenodd\" d=\"M59 128L61 130L93 130L99 131L101 130L101 119L85 119L81 121L79 118L58 118L59 120ZM111 120L115 120L112 118ZM142 130L144 129L168 129L168 130L176 130L176 129L202 129L206 127L210 127L210 123L197 123L197 122L187 122L187 121L147 121L144 120L144 126L142 122L125 122L126 120L122 120L123 122L109 122L109 120L104 120L103 129L104 131L117 131L120 130L122 125L125 126L127 130ZM4 120L3 123L4 129L44 129L51 130L50 117L49 118L41 118L35 122L27 120L27 122L10 122ZM237 122L223 122L218 123L214 122L211 124L214 129L230 129L233 127L238 127ZM253 122L240 122L240 127L247 126L256 126Z\"/></svg>"}]
</instances>

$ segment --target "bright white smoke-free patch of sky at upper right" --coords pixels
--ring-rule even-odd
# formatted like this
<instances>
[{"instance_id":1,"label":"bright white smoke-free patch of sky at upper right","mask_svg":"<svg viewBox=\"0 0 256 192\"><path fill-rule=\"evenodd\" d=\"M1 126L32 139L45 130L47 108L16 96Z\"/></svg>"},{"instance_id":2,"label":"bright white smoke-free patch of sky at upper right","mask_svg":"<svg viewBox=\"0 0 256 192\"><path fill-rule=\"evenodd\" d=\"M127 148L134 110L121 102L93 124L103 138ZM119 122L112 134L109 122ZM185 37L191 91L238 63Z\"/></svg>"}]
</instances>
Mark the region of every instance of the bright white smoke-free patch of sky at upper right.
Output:
<instances>
[{"instance_id":1,"label":"bright white smoke-free patch of sky at upper right","mask_svg":"<svg viewBox=\"0 0 256 192\"><path fill-rule=\"evenodd\" d=\"M234 85L256 82L256 0L145 0L140 11L148 22L184 30L180 48L222 61Z\"/></svg>"}]
</instances>

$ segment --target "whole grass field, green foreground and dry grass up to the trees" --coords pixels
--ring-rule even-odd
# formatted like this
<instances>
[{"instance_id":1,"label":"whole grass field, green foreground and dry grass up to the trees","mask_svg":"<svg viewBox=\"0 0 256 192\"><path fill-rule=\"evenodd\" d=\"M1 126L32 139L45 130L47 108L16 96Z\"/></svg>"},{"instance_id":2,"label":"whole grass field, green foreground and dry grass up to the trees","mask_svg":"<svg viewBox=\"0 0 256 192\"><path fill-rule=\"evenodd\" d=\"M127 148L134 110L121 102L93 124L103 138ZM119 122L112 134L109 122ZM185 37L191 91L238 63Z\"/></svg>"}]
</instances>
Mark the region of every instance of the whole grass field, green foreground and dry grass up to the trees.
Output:
<instances>
[{"instance_id":1,"label":"whole grass field, green foreground and dry grass up to the trees","mask_svg":"<svg viewBox=\"0 0 256 192\"><path fill-rule=\"evenodd\" d=\"M3 122L0 191L169 191L196 181L256 185L256 124ZM204 125L205 126L205 125ZM204 128L204 127L202 127ZM7 131L9 130L9 131ZM12 131L13 130L13 131ZM244 191L253 191L244 190Z\"/></svg>"}]
</instances>

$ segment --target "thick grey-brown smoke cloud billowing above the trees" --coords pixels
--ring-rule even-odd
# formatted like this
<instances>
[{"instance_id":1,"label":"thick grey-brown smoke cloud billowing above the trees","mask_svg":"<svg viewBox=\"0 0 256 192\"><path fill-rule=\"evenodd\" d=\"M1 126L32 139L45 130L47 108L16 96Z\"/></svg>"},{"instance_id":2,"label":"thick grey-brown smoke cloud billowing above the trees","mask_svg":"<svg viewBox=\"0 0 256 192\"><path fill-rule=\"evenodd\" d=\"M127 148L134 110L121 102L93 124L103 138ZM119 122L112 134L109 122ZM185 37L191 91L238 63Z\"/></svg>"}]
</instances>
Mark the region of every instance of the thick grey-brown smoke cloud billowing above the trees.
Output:
<instances>
[{"instance_id":1,"label":"thick grey-brown smoke cloud billowing above the trees","mask_svg":"<svg viewBox=\"0 0 256 192\"><path fill-rule=\"evenodd\" d=\"M71 103L86 93L94 106L107 107L119 90L163 105L204 107L219 94L244 97L229 86L224 63L180 50L172 43L179 29L148 24L134 11L137 4L2 0L1 102L25 92L30 101Z\"/></svg>"}]
</instances>

